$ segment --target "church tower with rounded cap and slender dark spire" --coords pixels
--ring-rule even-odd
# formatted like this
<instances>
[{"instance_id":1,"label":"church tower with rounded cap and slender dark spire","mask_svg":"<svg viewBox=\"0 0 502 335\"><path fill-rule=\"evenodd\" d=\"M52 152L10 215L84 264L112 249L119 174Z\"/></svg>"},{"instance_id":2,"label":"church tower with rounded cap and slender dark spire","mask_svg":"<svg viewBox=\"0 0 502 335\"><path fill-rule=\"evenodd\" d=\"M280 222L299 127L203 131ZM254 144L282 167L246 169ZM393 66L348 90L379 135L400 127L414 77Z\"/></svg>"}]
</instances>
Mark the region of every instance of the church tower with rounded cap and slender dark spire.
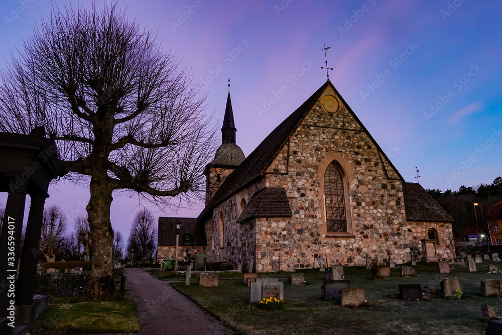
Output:
<instances>
[{"instance_id":1,"label":"church tower with rounded cap and slender dark spire","mask_svg":"<svg viewBox=\"0 0 502 335\"><path fill-rule=\"evenodd\" d=\"M228 84L228 87L230 87L230 84ZM235 144L236 132L232 101L230 100L230 88L228 88L225 116L221 128L221 145L216 150L213 161L207 164L204 169L204 175L206 176L206 204L223 184L226 177L245 159L242 149Z\"/></svg>"}]
</instances>

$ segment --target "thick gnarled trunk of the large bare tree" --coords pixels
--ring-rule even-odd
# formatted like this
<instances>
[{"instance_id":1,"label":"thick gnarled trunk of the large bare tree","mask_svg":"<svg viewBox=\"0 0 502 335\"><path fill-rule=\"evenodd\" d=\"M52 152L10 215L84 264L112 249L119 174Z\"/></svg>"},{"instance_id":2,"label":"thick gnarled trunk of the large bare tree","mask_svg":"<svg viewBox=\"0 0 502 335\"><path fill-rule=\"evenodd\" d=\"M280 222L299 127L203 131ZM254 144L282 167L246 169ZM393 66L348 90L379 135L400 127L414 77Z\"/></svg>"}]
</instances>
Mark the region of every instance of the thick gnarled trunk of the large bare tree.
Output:
<instances>
[{"instance_id":1,"label":"thick gnarled trunk of the large bare tree","mask_svg":"<svg viewBox=\"0 0 502 335\"><path fill-rule=\"evenodd\" d=\"M112 188L106 176L92 177L90 199L87 204L89 228L94 248L92 248L91 282L87 293L97 299L113 293L112 278L113 231L110 221L110 206L113 199Z\"/></svg>"}]
</instances>

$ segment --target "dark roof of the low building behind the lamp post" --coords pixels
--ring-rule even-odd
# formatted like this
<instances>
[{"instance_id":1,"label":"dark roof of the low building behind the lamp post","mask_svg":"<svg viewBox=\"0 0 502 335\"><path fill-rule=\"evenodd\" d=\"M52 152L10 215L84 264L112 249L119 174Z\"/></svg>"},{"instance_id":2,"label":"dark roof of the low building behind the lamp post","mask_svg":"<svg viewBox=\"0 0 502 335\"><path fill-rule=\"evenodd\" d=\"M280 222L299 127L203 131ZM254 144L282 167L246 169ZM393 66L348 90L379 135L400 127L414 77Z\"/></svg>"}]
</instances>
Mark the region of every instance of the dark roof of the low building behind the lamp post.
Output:
<instances>
[{"instance_id":1,"label":"dark roof of the low building behind the lamp post","mask_svg":"<svg viewBox=\"0 0 502 335\"><path fill-rule=\"evenodd\" d=\"M195 217L159 217L159 229L158 229L158 246L175 246L176 245L176 229L174 228L174 222L181 221L180 229L180 246L205 246L206 245L206 233L202 225L197 224L197 218ZM185 234L190 234L191 240L184 241L183 236Z\"/></svg>"}]
</instances>

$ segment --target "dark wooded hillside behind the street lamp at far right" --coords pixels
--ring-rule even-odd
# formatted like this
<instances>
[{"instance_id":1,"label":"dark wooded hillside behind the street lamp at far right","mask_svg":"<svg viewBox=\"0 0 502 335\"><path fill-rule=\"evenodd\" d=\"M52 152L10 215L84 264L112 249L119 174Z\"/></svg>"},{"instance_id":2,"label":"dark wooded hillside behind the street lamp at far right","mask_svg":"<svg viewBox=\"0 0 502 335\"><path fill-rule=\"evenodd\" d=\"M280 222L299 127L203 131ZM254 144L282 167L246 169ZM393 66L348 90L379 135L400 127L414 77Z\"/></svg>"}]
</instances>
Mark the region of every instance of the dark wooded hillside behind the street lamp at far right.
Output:
<instances>
[{"instance_id":1,"label":"dark wooded hillside behind the street lamp at far right","mask_svg":"<svg viewBox=\"0 0 502 335\"><path fill-rule=\"evenodd\" d=\"M455 219L453 231L462 235L469 228L476 226L486 228L486 218L490 208L502 201L502 177L496 177L487 185L480 184L477 187L462 185L458 191L447 189L441 192L440 189L427 189L427 192L453 216ZM479 205L474 206L474 203Z\"/></svg>"}]
</instances>

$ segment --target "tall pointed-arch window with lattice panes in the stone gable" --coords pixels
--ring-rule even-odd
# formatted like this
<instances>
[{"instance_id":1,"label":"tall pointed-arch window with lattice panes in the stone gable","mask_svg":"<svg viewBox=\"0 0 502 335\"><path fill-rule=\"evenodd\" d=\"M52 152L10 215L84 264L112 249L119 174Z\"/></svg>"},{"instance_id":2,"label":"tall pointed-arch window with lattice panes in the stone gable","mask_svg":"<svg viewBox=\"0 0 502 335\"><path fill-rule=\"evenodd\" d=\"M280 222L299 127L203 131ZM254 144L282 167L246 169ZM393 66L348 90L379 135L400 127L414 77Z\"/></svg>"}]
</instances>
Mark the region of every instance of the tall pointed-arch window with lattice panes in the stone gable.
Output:
<instances>
[{"instance_id":1,"label":"tall pointed-arch window with lattice panes in the stone gable","mask_svg":"<svg viewBox=\"0 0 502 335\"><path fill-rule=\"evenodd\" d=\"M326 228L328 232L346 232L345 192L343 177L336 161L324 172L324 197L326 201Z\"/></svg>"}]
</instances>

